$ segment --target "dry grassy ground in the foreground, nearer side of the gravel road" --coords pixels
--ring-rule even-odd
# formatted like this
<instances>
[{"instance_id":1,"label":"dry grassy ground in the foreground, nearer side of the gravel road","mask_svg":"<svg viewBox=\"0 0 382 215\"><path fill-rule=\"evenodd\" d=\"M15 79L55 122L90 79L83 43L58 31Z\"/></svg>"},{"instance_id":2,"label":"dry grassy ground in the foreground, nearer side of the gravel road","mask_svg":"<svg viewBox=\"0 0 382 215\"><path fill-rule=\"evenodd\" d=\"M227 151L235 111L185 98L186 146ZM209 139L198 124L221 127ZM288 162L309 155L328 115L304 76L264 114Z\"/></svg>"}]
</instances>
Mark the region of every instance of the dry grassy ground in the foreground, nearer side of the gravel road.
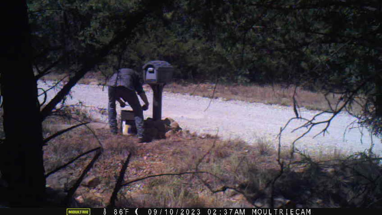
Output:
<instances>
[{"instance_id":1,"label":"dry grassy ground in the foreground, nearer side of the gravel road","mask_svg":"<svg viewBox=\"0 0 382 215\"><path fill-rule=\"evenodd\" d=\"M59 119L52 122L66 123ZM45 126L51 129L50 132L57 129L52 122ZM170 138L142 144L134 137L112 135L107 129L94 131L104 151L88 175L97 176L101 182L96 187L80 186L74 194L77 200L73 206L105 207L122 163L128 153L132 153L123 183L166 173L206 171L209 174L158 176L131 183L118 192L116 207L253 207L253 204L269 207L270 181L279 173L280 166L276 161L277 149L270 147L272 144L267 140L259 138L257 144L249 146L241 140L223 141L178 132ZM89 130L78 128L53 139L44 147L45 169L50 171L86 150L98 147L97 138ZM295 207L350 207L357 206L357 201L368 200L376 202L371 207L377 207L376 197L382 195L378 160L372 160L374 158L370 156L348 158L340 153L317 158L296 155L293 160L288 160L289 153L282 151L282 160L291 165L284 166L282 177L275 183L278 200L275 207L290 202ZM48 185L67 190L92 156L93 153L86 155L52 174L47 180ZM375 193L360 194L364 187L354 184L360 177L358 173L375 180L366 187L367 190L378 187L373 191ZM365 182L367 180L363 179L362 183ZM232 189L212 192L223 186Z\"/></svg>"}]
</instances>

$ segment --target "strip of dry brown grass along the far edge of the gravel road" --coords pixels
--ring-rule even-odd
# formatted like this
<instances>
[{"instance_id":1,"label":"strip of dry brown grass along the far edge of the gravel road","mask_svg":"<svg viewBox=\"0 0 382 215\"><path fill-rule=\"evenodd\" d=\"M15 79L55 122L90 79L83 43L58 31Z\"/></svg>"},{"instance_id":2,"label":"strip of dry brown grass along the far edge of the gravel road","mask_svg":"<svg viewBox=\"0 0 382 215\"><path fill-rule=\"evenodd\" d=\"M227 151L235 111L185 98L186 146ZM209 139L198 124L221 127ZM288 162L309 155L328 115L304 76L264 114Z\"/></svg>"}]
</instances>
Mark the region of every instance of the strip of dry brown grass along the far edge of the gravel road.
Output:
<instances>
[{"instance_id":1,"label":"strip of dry brown grass along the far edge of the gravel road","mask_svg":"<svg viewBox=\"0 0 382 215\"><path fill-rule=\"evenodd\" d=\"M49 74L44 76L42 80L60 80L65 77L65 75L59 74ZM67 81L66 78L64 81ZM79 83L81 84L94 84L103 85L105 84L105 77L100 73L87 73L84 78L82 78ZM264 104L279 104L282 106L292 106L293 105L293 94L294 87L283 87L281 85L273 86L259 86L259 85L223 85L218 84L214 92L214 84L212 83L201 83L194 84L188 82L173 82L165 85L164 91L170 93L183 93L195 96L202 96L207 98L223 98L225 100L240 100L247 102L259 102ZM149 88L147 86L147 88ZM329 94L328 99L332 105L336 104L339 95ZM325 99L324 94L314 93L311 91L303 90L297 88L296 99L300 107L305 107L311 110L326 111L329 110L329 105ZM356 110L359 107L355 107Z\"/></svg>"}]
</instances>

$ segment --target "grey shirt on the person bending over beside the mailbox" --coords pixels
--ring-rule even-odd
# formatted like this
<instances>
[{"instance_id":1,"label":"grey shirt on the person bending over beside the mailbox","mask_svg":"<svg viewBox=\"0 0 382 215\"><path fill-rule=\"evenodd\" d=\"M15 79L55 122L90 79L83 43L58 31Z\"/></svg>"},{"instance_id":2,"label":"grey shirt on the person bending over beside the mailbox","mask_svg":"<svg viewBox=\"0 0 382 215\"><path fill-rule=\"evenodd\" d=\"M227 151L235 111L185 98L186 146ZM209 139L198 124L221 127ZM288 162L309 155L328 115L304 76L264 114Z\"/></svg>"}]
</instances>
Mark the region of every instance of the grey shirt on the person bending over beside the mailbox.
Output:
<instances>
[{"instance_id":1,"label":"grey shirt on the person bending over beside the mailbox","mask_svg":"<svg viewBox=\"0 0 382 215\"><path fill-rule=\"evenodd\" d=\"M124 86L138 94L143 92L142 84L138 74L129 68L121 68L115 72L106 83L107 86Z\"/></svg>"}]
</instances>

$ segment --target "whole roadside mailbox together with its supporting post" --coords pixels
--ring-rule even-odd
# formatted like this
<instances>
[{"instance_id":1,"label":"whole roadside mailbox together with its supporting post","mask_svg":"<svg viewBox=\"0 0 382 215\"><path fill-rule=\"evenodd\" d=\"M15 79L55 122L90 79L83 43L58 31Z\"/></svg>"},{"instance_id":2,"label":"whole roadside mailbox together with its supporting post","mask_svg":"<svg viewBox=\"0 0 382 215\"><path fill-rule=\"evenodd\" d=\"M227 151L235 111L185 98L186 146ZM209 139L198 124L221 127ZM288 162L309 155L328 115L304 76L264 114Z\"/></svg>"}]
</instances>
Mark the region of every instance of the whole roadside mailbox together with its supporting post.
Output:
<instances>
[{"instance_id":1,"label":"whole roadside mailbox together with its supporting post","mask_svg":"<svg viewBox=\"0 0 382 215\"><path fill-rule=\"evenodd\" d=\"M154 92L152 98L152 118L154 121L162 119L162 92L167 82L171 81L174 68L166 61L149 61L142 67L143 80L151 86Z\"/></svg>"}]
</instances>

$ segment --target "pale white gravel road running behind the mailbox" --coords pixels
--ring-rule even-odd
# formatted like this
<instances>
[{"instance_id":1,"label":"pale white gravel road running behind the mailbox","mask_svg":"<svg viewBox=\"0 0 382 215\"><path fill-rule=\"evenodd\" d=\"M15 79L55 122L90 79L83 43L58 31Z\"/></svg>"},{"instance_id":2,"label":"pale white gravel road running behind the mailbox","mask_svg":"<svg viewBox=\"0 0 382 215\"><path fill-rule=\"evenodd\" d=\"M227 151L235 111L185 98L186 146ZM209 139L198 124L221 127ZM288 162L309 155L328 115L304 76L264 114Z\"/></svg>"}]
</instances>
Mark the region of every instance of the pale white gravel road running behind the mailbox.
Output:
<instances>
[{"instance_id":1,"label":"pale white gravel road running behind the mailbox","mask_svg":"<svg viewBox=\"0 0 382 215\"><path fill-rule=\"evenodd\" d=\"M49 82L52 83L52 82ZM47 89L48 86L39 81L39 87ZM48 93L48 101L54 95L51 90ZM150 108L144 112L145 119L152 117L152 91L146 90ZM107 109L107 87L102 90L102 86L97 85L76 85L71 90L72 98L68 98L67 104L76 104L79 101L85 106L91 106L89 113L92 118L105 123L107 128L107 115L102 115L99 108ZM41 98L42 99L42 98ZM280 127L283 127L289 119L294 117L291 107L267 105L262 103L248 103L243 101L224 101L223 99L213 99L210 106L210 99L199 96L189 96L185 94L163 93L162 98L162 119L171 117L177 121L183 129L198 134L218 134L224 139L240 138L249 144L256 143L259 138L269 141L277 147L277 134ZM117 104L117 107L119 105ZM206 110L206 108L209 108ZM128 106L124 109L129 109ZM120 108L117 108L120 112ZM317 111L300 109L301 116L310 119ZM119 117L119 116L117 116ZM327 119L329 115L324 115L318 120ZM305 137L296 142L296 148L309 153L321 152L342 152L353 153L364 151L374 143L374 153L382 155L382 143L379 138L371 137L366 129L362 131L351 125L356 119L346 113L336 116L328 129L329 134L318 134L325 125L319 125L312 129ZM303 121L292 121L282 133L282 147L290 147L291 142L303 134L306 129L299 129L291 132L294 128L302 125Z\"/></svg>"}]
</instances>

